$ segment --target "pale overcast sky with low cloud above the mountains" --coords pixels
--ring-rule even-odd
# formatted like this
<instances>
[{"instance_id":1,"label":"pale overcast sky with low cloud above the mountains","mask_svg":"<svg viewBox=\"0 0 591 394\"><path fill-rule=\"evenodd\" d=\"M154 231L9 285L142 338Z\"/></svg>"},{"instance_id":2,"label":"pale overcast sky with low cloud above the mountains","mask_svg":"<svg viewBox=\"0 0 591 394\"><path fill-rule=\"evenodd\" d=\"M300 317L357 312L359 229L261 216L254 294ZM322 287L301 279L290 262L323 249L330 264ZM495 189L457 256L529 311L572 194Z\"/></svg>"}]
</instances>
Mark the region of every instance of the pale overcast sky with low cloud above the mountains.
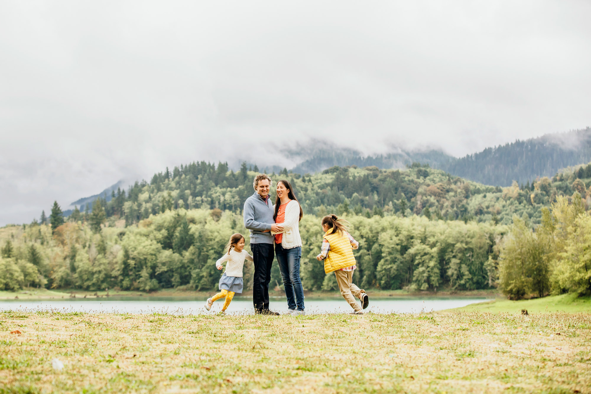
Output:
<instances>
[{"instance_id":1,"label":"pale overcast sky with low cloud above the mountains","mask_svg":"<svg viewBox=\"0 0 591 394\"><path fill-rule=\"evenodd\" d=\"M591 125L588 1L0 0L0 225L310 138L454 156Z\"/></svg>"}]
</instances>

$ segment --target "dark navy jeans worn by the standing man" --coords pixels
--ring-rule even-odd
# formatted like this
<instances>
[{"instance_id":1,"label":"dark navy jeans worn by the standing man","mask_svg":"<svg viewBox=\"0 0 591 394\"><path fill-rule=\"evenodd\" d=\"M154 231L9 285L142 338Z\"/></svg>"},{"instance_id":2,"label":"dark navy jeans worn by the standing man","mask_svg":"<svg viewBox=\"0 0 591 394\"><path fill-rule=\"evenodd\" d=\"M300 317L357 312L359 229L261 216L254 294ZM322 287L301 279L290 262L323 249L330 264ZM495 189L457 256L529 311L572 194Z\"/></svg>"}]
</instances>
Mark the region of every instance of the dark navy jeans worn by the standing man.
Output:
<instances>
[{"instance_id":1,"label":"dark navy jeans worn by the standing man","mask_svg":"<svg viewBox=\"0 0 591 394\"><path fill-rule=\"evenodd\" d=\"M251 250L255 260L252 303L256 311L266 311L269 309L269 282L271 282L271 265L275 255L273 244L251 244Z\"/></svg>"}]
</instances>

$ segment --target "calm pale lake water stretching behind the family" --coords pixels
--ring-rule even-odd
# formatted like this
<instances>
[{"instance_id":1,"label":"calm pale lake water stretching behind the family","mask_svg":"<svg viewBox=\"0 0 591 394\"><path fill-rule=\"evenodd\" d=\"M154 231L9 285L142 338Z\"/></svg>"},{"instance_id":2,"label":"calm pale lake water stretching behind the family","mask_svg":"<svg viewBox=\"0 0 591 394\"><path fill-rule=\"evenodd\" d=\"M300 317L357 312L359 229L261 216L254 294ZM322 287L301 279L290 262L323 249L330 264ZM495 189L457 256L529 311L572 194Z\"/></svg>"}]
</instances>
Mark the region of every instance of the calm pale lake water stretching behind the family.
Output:
<instances>
[{"instance_id":1,"label":"calm pale lake water stretching behind the family","mask_svg":"<svg viewBox=\"0 0 591 394\"><path fill-rule=\"evenodd\" d=\"M459 308L470 303L488 301L486 298L371 298L366 312L379 314L389 313L418 313L441 311L442 309ZM109 313L168 313L183 315L213 314L222 309L223 299L213 304L211 311L203 307L205 300L187 300L186 298L115 298L108 299L67 299L63 301L0 301L0 310L28 310L28 311L60 311L60 312L109 312ZM343 313L353 309L344 299L306 299L307 314ZM287 301L283 297L272 298L272 311L287 312ZM234 298L228 314L252 314L252 297Z\"/></svg>"}]
</instances>

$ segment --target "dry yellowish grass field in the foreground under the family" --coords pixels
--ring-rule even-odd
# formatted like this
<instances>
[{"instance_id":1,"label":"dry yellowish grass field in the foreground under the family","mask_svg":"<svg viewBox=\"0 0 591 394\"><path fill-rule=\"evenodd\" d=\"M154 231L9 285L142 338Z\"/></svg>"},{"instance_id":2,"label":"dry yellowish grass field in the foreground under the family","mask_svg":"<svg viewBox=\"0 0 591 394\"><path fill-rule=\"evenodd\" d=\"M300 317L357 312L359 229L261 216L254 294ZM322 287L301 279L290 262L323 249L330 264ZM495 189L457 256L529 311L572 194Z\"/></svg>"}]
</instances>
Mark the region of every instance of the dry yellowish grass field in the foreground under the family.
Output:
<instances>
[{"instance_id":1,"label":"dry yellowish grass field in the foreground under the family","mask_svg":"<svg viewBox=\"0 0 591 394\"><path fill-rule=\"evenodd\" d=\"M54 357L63 371L52 369ZM570 393L589 387L588 314L0 313L0 393Z\"/></svg>"}]
</instances>

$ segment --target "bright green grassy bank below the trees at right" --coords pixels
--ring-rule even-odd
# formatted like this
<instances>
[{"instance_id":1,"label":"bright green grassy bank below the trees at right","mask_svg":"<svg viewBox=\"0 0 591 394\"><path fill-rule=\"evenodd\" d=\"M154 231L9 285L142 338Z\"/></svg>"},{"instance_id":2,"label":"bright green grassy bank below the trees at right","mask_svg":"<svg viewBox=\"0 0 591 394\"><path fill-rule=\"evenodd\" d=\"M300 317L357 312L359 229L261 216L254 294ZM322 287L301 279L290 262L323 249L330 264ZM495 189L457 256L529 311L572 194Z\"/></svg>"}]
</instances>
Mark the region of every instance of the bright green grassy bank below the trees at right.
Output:
<instances>
[{"instance_id":1,"label":"bright green grassy bank below the trees at right","mask_svg":"<svg viewBox=\"0 0 591 394\"><path fill-rule=\"evenodd\" d=\"M473 303L463 308L449 309L445 312L520 312L527 309L530 314L570 312L570 313L591 313L591 300L589 297L577 297L574 294L563 294L544 298L527 299L521 301L509 301L507 299L496 299L489 302Z\"/></svg>"}]
</instances>

